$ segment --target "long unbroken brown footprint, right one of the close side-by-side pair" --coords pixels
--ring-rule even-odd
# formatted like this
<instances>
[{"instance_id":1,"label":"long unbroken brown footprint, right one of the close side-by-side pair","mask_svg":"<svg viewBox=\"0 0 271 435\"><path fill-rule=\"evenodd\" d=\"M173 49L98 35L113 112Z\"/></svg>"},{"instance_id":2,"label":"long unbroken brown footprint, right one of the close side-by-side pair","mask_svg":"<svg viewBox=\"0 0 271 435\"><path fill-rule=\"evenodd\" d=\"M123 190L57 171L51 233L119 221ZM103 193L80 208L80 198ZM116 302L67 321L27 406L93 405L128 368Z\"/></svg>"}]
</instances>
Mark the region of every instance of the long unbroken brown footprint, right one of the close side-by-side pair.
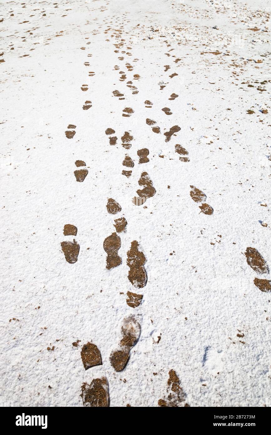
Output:
<instances>
[{"instance_id":1,"label":"long unbroken brown footprint, right one of the close side-by-side pair","mask_svg":"<svg viewBox=\"0 0 271 435\"><path fill-rule=\"evenodd\" d=\"M144 268L146 257L143 252L139 251L138 247L138 242L134 240L127 252L127 265L130 268L128 279L134 287L143 288L147 284L147 273Z\"/></svg>"}]
</instances>

